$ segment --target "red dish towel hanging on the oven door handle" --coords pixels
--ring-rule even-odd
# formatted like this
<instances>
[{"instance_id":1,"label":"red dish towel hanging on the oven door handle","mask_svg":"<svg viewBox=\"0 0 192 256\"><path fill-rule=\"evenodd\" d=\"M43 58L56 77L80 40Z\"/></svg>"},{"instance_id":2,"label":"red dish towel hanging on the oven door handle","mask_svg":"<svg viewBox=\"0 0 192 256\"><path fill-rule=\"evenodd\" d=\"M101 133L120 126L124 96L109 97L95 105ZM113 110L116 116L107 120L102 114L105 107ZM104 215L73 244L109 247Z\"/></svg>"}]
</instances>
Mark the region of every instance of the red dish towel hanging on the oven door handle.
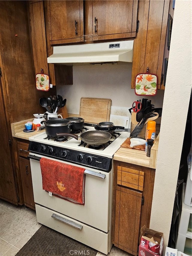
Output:
<instances>
[{"instance_id":1,"label":"red dish towel hanging on the oven door handle","mask_svg":"<svg viewBox=\"0 0 192 256\"><path fill-rule=\"evenodd\" d=\"M85 169L41 158L43 189L73 203L84 205Z\"/></svg>"}]
</instances>

